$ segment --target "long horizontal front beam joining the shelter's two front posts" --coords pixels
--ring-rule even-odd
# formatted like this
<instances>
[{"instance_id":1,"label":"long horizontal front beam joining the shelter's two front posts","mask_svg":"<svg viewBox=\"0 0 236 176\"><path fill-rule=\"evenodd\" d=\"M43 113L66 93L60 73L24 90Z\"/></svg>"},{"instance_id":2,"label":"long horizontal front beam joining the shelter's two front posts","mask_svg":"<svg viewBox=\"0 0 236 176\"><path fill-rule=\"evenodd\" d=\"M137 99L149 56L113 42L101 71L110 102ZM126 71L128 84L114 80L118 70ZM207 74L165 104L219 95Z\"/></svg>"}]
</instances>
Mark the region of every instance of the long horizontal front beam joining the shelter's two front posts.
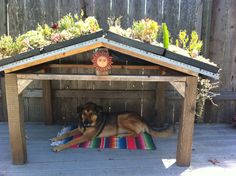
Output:
<instances>
[{"instance_id":1,"label":"long horizontal front beam joining the shelter's two front posts","mask_svg":"<svg viewBox=\"0 0 236 176\"><path fill-rule=\"evenodd\" d=\"M124 75L62 75L62 74L17 74L19 79L33 80L80 80L80 81L143 81L143 82L173 82L186 80L184 76L124 76Z\"/></svg>"}]
</instances>

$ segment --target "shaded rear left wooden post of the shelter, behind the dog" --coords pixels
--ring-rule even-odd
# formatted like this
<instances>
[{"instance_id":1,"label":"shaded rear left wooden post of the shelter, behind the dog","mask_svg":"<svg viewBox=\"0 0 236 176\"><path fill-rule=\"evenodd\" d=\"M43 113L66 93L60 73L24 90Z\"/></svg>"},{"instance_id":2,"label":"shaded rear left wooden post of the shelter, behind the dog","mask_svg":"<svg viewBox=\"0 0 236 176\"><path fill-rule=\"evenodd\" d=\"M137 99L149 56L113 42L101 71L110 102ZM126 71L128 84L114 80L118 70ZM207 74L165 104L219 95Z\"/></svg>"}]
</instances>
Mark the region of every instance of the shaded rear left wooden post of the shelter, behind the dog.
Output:
<instances>
[{"instance_id":1,"label":"shaded rear left wooden post of the shelter, behind the dog","mask_svg":"<svg viewBox=\"0 0 236 176\"><path fill-rule=\"evenodd\" d=\"M51 125L53 123L52 116L52 93L51 81L43 80L43 106L44 106L44 123Z\"/></svg>"}]
</instances>

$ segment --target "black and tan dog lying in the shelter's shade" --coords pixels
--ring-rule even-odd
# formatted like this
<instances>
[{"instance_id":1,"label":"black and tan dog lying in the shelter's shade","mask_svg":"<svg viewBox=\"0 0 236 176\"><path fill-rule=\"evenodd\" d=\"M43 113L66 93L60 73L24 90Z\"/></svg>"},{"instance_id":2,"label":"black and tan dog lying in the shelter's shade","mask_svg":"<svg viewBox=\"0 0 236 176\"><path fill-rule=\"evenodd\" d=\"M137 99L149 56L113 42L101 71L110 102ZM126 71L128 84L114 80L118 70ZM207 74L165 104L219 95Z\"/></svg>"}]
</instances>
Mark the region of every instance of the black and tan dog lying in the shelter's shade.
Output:
<instances>
[{"instance_id":1,"label":"black and tan dog lying in the shelter's shade","mask_svg":"<svg viewBox=\"0 0 236 176\"><path fill-rule=\"evenodd\" d=\"M95 137L109 136L136 136L139 133L147 132L155 137L167 137L172 133L171 129L165 131L154 131L142 118L135 113L107 113L102 112L102 107L94 103L87 103L79 108L78 128L52 139L53 142L67 137L82 134L70 142L53 148L59 152L78 143L89 141Z\"/></svg>"}]
</instances>

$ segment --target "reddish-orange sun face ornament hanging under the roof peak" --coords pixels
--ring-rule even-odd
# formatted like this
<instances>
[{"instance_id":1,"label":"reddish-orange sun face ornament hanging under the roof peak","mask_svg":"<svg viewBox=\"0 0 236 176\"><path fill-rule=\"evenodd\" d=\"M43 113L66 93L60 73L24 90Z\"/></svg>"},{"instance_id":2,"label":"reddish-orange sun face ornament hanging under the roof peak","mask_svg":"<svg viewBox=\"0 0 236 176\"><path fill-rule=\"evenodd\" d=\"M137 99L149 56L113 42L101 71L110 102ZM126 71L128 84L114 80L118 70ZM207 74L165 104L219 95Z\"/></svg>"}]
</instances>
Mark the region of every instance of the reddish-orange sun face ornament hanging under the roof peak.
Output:
<instances>
[{"instance_id":1,"label":"reddish-orange sun face ornament hanging under the roof peak","mask_svg":"<svg viewBox=\"0 0 236 176\"><path fill-rule=\"evenodd\" d=\"M108 71L112 67L112 57L107 49L98 50L93 54L93 66L97 75L108 75Z\"/></svg>"}]
</instances>

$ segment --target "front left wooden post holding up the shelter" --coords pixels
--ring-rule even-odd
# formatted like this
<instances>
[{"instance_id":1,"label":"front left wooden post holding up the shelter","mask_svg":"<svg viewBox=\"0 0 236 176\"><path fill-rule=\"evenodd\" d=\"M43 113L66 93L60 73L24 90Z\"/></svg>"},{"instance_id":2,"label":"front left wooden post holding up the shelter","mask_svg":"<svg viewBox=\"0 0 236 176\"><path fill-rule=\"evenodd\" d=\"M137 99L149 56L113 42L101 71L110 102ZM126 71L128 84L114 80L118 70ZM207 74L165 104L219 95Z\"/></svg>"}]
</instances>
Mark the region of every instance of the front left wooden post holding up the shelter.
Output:
<instances>
[{"instance_id":1,"label":"front left wooden post holding up the shelter","mask_svg":"<svg viewBox=\"0 0 236 176\"><path fill-rule=\"evenodd\" d=\"M5 75L5 88L13 164L24 164L27 160L24 118L18 96L16 74Z\"/></svg>"}]
</instances>

